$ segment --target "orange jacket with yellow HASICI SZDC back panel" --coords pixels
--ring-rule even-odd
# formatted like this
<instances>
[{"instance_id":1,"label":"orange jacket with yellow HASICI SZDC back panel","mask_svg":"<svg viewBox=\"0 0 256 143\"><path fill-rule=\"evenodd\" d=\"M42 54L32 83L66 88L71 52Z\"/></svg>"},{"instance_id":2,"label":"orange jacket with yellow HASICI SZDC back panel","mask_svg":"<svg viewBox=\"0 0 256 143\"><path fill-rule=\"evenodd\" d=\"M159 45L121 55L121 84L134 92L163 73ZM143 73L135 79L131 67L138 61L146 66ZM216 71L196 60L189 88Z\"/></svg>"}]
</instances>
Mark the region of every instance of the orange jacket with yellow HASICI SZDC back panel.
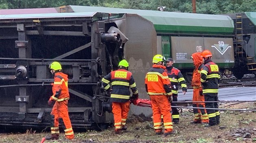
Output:
<instances>
[{"instance_id":1,"label":"orange jacket with yellow HASICI SZDC back panel","mask_svg":"<svg viewBox=\"0 0 256 143\"><path fill-rule=\"evenodd\" d=\"M148 95L172 95L171 82L165 72L165 66L153 65L146 74L145 88Z\"/></svg>"}]
</instances>

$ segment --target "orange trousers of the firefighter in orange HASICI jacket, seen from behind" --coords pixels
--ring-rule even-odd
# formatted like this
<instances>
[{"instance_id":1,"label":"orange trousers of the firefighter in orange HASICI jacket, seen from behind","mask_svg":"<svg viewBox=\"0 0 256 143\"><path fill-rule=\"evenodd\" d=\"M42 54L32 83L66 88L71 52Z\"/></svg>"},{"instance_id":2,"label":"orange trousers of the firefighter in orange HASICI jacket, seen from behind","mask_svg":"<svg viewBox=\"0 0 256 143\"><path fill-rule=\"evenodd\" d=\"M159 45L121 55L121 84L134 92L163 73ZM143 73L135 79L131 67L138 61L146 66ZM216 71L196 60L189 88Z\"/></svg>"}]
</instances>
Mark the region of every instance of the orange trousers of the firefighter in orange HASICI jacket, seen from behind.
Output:
<instances>
[{"instance_id":1,"label":"orange trousers of the firefighter in orange HASICI jacket, seen from behind","mask_svg":"<svg viewBox=\"0 0 256 143\"><path fill-rule=\"evenodd\" d=\"M166 95L150 95L150 100L153 110L153 122L155 132L162 132L162 120L161 115L163 115L163 122L165 127L165 132L172 131L171 122L171 104L168 101Z\"/></svg>"}]
</instances>

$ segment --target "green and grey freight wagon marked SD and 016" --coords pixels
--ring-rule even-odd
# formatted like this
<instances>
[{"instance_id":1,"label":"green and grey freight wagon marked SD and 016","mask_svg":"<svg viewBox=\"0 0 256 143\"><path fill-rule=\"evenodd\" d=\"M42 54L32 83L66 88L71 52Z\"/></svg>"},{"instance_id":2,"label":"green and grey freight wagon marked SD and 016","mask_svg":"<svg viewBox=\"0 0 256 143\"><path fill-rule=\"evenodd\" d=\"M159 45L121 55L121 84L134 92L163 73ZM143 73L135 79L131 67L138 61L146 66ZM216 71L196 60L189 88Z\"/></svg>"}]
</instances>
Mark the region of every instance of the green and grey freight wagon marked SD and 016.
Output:
<instances>
[{"instance_id":1,"label":"green and grey freight wagon marked SD and 016","mask_svg":"<svg viewBox=\"0 0 256 143\"><path fill-rule=\"evenodd\" d=\"M221 71L232 69L234 66L232 39L234 23L229 16L72 5L56 8L56 10L74 13L89 11L133 13L151 21L156 31L156 41L152 45L153 52L151 52L151 56L148 56L150 51L147 50L144 50L144 53L136 53L135 49L143 48L141 47L143 37L137 39L141 40L141 44L125 48L126 57L132 59L130 62L142 60L139 66L143 66L143 69L151 66L150 61L153 55L156 53L162 54L166 58L172 57L175 62L174 66L181 69L188 82L190 82L191 74L187 73L193 69L193 63L190 59L191 54L202 52L206 49L213 53L213 61L219 65ZM134 24L136 25L136 21L134 21ZM143 31L143 29L141 30ZM132 44L131 42L130 40L126 46ZM145 53L147 53L146 58L144 58ZM136 66L134 68L138 69L140 67ZM130 70L133 71L133 67ZM135 76L136 74L139 74L139 77L143 77L141 74L145 74L145 72L137 73L135 70Z\"/></svg>"}]
</instances>

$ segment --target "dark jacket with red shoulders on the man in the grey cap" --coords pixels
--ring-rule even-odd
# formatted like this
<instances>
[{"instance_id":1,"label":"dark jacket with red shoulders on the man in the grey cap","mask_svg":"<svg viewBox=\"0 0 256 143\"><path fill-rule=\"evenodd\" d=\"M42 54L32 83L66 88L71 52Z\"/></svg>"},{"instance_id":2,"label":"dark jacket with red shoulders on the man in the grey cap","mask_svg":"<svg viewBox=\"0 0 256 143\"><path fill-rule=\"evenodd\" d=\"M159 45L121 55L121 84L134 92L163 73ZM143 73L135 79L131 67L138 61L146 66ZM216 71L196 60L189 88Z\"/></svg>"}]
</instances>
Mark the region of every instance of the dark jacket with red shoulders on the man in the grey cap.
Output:
<instances>
[{"instance_id":1,"label":"dark jacket with red shoulders on the man in the grey cap","mask_svg":"<svg viewBox=\"0 0 256 143\"><path fill-rule=\"evenodd\" d=\"M176 67L166 67L167 75L171 81L171 91L173 94L178 94L178 83L180 83L182 91L187 91L186 81L181 72Z\"/></svg>"}]
</instances>

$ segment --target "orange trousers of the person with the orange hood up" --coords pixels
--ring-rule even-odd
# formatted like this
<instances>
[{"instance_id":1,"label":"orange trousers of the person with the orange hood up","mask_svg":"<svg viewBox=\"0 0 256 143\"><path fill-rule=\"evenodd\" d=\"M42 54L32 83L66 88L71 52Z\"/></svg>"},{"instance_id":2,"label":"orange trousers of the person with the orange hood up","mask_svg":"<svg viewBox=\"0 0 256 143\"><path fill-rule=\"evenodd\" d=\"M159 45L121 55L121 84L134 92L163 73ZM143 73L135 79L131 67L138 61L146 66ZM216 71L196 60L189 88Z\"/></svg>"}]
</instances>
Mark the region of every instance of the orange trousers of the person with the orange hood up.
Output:
<instances>
[{"instance_id":1,"label":"orange trousers of the person with the orange hood up","mask_svg":"<svg viewBox=\"0 0 256 143\"><path fill-rule=\"evenodd\" d=\"M193 101L203 101L203 103L193 103L193 107L205 108L204 95L200 95L200 90L202 91L202 87L193 89ZM209 122L206 109L193 109L193 111L195 114L195 122Z\"/></svg>"}]
</instances>

